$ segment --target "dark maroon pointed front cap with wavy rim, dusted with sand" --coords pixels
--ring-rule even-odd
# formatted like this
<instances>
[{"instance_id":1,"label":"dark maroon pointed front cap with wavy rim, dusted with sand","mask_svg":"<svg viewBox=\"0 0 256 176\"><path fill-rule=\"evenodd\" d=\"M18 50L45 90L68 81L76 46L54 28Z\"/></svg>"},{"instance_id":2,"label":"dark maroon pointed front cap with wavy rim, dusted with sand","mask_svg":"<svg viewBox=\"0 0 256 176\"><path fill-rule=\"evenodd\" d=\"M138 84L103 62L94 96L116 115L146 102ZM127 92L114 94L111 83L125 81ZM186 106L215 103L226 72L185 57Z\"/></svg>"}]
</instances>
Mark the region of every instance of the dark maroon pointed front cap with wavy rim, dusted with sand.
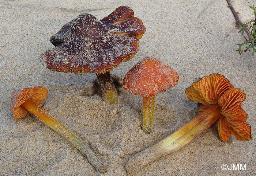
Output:
<instances>
[{"instance_id":1,"label":"dark maroon pointed front cap with wavy rim, dusted with sand","mask_svg":"<svg viewBox=\"0 0 256 176\"><path fill-rule=\"evenodd\" d=\"M138 51L135 37L113 34L94 16L79 15L63 43L43 52L40 60L55 71L104 73L132 58Z\"/></svg>"}]
</instances>

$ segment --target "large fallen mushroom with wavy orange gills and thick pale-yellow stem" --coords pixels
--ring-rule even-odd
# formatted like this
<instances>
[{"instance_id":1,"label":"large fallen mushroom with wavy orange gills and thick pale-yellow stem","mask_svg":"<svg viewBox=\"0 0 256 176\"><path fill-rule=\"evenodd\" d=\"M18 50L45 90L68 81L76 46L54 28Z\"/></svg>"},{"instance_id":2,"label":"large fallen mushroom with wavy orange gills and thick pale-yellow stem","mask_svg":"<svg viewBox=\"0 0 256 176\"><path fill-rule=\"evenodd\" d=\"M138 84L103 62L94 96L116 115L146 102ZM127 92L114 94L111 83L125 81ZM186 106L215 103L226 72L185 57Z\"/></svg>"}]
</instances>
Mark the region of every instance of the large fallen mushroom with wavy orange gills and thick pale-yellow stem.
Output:
<instances>
[{"instance_id":1,"label":"large fallen mushroom with wavy orange gills and thick pale-yellow stem","mask_svg":"<svg viewBox=\"0 0 256 176\"><path fill-rule=\"evenodd\" d=\"M198 116L170 136L129 159L125 165L128 175L133 175L148 163L180 149L217 120L222 141L228 141L231 133L240 141L252 139L251 126L246 122L247 114L241 108L245 93L233 88L223 75L205 76L188 87L185 93L190 100L199 102Z\"/></svg>"}]
</instances>

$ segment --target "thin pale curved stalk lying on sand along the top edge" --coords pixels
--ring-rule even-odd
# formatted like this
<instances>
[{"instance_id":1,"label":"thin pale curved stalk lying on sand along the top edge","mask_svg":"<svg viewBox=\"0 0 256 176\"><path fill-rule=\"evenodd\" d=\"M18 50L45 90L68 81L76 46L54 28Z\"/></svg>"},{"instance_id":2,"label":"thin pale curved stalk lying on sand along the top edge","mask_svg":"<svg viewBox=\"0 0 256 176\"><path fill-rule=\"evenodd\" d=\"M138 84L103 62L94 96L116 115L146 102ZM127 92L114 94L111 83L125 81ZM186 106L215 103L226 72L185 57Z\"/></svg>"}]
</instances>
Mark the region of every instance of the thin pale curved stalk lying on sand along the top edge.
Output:
<instances>
[{"instance_id":1,"label":"thin pale curved stalk lying on sand along the top edge","mask_svg":"<svg viewBox=\"0 0 256 176\"><path fill-rule=\"evenodd\" d=\"M31 4L31 5L38 5L38 6L42 6L42 7L57 8L57 9L61 9L61 10L74 11L74 12L91 12L91 11L97 11L97 10L108 9L108 8L111 8L113 5L115 5L115 4L121 2L121 1L118 1L117 3L108 5L108 6L103 7L103 8L69 9L69 8L63 8L63 7L57 7L57 6L45 5L45 4L39 4L39 3L33 3L33 2L29 2L29 1L17 1L17 0L5 0L5 1L12 1L12 2L15 2L15 3L23 3L23 4Z\"/></svg>"}]
</instances>

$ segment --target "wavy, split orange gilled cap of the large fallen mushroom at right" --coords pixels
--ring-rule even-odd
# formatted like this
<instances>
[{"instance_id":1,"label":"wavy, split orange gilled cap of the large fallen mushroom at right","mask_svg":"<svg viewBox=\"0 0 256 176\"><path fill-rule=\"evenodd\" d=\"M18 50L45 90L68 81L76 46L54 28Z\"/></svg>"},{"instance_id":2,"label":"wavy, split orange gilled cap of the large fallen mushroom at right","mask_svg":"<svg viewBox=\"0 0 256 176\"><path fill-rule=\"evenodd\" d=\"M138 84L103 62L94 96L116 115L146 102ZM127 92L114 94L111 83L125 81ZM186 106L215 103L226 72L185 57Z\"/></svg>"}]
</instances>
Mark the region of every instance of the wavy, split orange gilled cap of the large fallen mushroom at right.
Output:
<instances>
[{"instance_id":1,"label":"wavy, split orange gilled cap of the large fallen mushroom at right","mask_svg":"<svg viewBox=\"0 0 256 176\"><path fill-rule=\"evenodd\" d=\"M241 108L245 93L233 88L223 75L211 74L203 77L188 87L185 94L190 100L199 102L199 113L211 104L222 107L218 121L218 133L222 141L227 142L231 134L240 141L252 139L251 126L246 122L247 114Z\"/></svg>"}]
</instances>

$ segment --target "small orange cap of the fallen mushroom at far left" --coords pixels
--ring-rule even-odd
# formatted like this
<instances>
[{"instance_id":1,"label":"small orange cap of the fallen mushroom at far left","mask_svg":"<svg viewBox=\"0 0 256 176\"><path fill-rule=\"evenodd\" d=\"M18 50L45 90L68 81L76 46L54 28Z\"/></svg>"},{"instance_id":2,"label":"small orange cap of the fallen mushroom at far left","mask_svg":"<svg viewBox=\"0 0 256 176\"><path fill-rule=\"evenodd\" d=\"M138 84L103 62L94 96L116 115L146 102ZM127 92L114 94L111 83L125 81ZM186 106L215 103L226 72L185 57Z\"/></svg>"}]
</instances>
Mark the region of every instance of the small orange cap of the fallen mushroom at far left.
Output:
<instances>
[{"instance_id":1,"label":"small orange cap of the fallen mushroom at far left","mask_svg":"<svg viewBox=\"0 0 256 176\"><path fill-rule=\"evenodd\" d=\"M37 106L41 106L47 96L48 90L42 86L27 87L21 90L15 90L11 95L11 113L14 119L27 117L30 112L26 110L22 105L27 99L35 103Z\"/></svg>"}]
</instances>

